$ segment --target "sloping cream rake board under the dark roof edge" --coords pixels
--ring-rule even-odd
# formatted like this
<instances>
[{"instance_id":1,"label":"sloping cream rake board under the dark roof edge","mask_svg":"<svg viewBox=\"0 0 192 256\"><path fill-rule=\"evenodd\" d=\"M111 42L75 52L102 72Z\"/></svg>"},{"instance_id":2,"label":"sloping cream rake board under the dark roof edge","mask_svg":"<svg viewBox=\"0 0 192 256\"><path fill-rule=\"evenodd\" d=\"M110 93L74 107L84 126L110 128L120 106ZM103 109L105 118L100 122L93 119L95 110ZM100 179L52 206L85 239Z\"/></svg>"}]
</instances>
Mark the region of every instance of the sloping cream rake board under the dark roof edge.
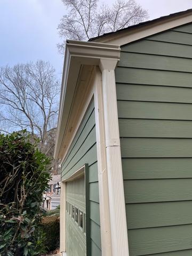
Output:
<instances>
[{"instance_id":1,"label":"sloping cream rake board under the dark roof edge","mask_svg":"<svg viewBox=\"0 0 192 256\"><path fill-rule=\"evenodd\" d=\"M192 22L192 13L187 12L173 17L167 17L164 20L151 21L146 25L141 25L135 28L116 31L112 34L97 38L92 42L118 44L122 46L190 22Z\"/></svg>"}]
</instances>

